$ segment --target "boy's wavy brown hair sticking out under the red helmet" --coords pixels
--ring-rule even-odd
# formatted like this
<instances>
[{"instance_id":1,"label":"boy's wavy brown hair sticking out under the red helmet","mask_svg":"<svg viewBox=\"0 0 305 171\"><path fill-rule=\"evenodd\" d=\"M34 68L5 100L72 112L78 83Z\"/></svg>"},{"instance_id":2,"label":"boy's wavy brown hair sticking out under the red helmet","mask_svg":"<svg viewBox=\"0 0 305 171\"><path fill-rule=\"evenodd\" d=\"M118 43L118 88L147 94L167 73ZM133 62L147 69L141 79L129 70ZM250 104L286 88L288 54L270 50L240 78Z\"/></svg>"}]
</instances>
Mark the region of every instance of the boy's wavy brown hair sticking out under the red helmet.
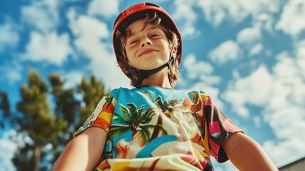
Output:
<instances>
[{"instance_id":1,"label":"boy's wavy brown hair sticking out under the red helmet","mask_svg":"<svg viewBox=\"0 0 305 171\"><path fill-rule=\"evenodd\" d=\"M168 39L168 43L169 43L169 47L168 49L171 51L172 48L178 48L178 37L176 35L175 32L171 31L169 28L167 28L166 26L164 26L164 24L161 23L161 18L154 13L153 16L146 14L144 15L144 24L146 26L146 24L153 24L155 26L158 26L162 31L164 31L164 33L166 34L166 37ZM145 28L144 26L144 28ZM131 66L129 66L128 63L128 58L126 55L126 41L127 38L130 36L130 31L128 30L124 30L124 31L119 31L119 29L117 29L116 31L116 37L119 38L121 40L122 46L120 51L122 52L122 58L120 58L118 60L118 64L119 66L122 68L122 71L130 78L131 80L131 85L135 86L136 82L137 82L137 75L132 75L132 73L129 72L129 68ZM171 63L169 70L168 70L168 79L169 79L169 83L171 83L171 86L174 87L176 85L176 82L178 81L178 79L180 78L180 73L178 71L178 67L179 67L179 58L181 58L180 55L176 55L173 56L174 60Z\"/></svg>"}]
</instances>

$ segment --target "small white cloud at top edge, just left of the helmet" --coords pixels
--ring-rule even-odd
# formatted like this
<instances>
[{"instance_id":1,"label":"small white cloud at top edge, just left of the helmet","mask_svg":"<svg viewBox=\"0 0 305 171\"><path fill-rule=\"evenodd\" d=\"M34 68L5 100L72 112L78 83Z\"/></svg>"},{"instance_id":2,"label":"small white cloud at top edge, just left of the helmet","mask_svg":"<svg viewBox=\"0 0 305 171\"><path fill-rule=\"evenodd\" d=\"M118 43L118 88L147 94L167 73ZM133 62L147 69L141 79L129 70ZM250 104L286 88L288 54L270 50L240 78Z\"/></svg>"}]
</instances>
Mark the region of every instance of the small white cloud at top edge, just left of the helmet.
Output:
<instances>
[{"instance_id":1,"label":"small white cloud at top edge, just left of the helmet","mask_svg":"<svg viewBox=\"0 0 305 171\"><path fill-rule=\"evenodd\" d=\"M112 0L93 0L87 9L89 15L105 16L107 18L111 16L117 16L119 14L119 1Z\"/></svg>"}]
</instances>

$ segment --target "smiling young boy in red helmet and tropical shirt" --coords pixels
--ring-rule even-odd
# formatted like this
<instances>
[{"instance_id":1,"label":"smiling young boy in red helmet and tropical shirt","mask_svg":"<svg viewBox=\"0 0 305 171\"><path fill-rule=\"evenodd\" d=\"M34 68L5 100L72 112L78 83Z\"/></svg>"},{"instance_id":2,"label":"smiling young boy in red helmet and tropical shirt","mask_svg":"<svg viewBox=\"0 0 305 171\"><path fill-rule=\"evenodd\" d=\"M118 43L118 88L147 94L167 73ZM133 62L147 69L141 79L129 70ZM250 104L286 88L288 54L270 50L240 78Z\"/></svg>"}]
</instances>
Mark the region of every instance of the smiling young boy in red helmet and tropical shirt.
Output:
<instances>
[{"instance_id":1,"label":"smiling young boy in red helmet and tropical shirt","mask_svg":"<svg viewBox=\"0 0 305 171\"><path fill-rule=\"evenodd\" d=\"M156 4L140 3L114 22L114 52L136 88L106 93L65 147L54 170L277 170L203 91L174 90L181 61L176 24Z\"/></svg>"}]
</instances>

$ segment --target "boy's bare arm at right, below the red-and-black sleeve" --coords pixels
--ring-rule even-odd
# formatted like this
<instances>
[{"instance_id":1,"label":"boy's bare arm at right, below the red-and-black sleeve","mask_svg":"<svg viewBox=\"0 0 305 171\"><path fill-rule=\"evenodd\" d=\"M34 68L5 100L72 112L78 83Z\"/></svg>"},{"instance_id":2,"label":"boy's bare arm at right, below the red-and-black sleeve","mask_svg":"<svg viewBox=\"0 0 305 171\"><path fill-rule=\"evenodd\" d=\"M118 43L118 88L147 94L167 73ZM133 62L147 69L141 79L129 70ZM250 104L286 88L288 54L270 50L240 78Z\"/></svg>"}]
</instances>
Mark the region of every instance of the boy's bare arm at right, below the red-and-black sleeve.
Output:
<instances>
[{"instance_id":1,"label":"boy's bare arm at right, below the red-and-black sleeve","mask_svg":"<svg viewBox=\"0 0 305 171\"><path fill-rule=\"evenodd\" d=\"M231 135L223 149L238 170L278 170L262 147L243 133Z\"/></svg>"}]
</instances>

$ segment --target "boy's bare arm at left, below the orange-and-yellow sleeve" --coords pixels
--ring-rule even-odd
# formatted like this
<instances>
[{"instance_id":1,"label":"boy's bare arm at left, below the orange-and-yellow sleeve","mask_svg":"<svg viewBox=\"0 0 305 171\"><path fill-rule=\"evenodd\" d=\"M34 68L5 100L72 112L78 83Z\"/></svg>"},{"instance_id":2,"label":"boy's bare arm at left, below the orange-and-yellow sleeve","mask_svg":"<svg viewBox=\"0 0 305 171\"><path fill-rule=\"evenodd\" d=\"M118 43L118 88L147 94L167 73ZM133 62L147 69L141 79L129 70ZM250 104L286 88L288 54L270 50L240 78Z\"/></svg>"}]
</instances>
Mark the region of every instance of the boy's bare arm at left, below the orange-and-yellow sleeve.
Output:
<instances>
[{"instance_id":1,"label":"boy's bare arm at left, below the orange-and-yellow sleeve","mask_svg":"<svg viewBox=\"0 0 305 171\"><path fill-rule=\"evenodd\" d=\"M106 138L105 130L88 128L68 143L53 170L93 170L100 161Z\"/></svg>"}]
</instances>

